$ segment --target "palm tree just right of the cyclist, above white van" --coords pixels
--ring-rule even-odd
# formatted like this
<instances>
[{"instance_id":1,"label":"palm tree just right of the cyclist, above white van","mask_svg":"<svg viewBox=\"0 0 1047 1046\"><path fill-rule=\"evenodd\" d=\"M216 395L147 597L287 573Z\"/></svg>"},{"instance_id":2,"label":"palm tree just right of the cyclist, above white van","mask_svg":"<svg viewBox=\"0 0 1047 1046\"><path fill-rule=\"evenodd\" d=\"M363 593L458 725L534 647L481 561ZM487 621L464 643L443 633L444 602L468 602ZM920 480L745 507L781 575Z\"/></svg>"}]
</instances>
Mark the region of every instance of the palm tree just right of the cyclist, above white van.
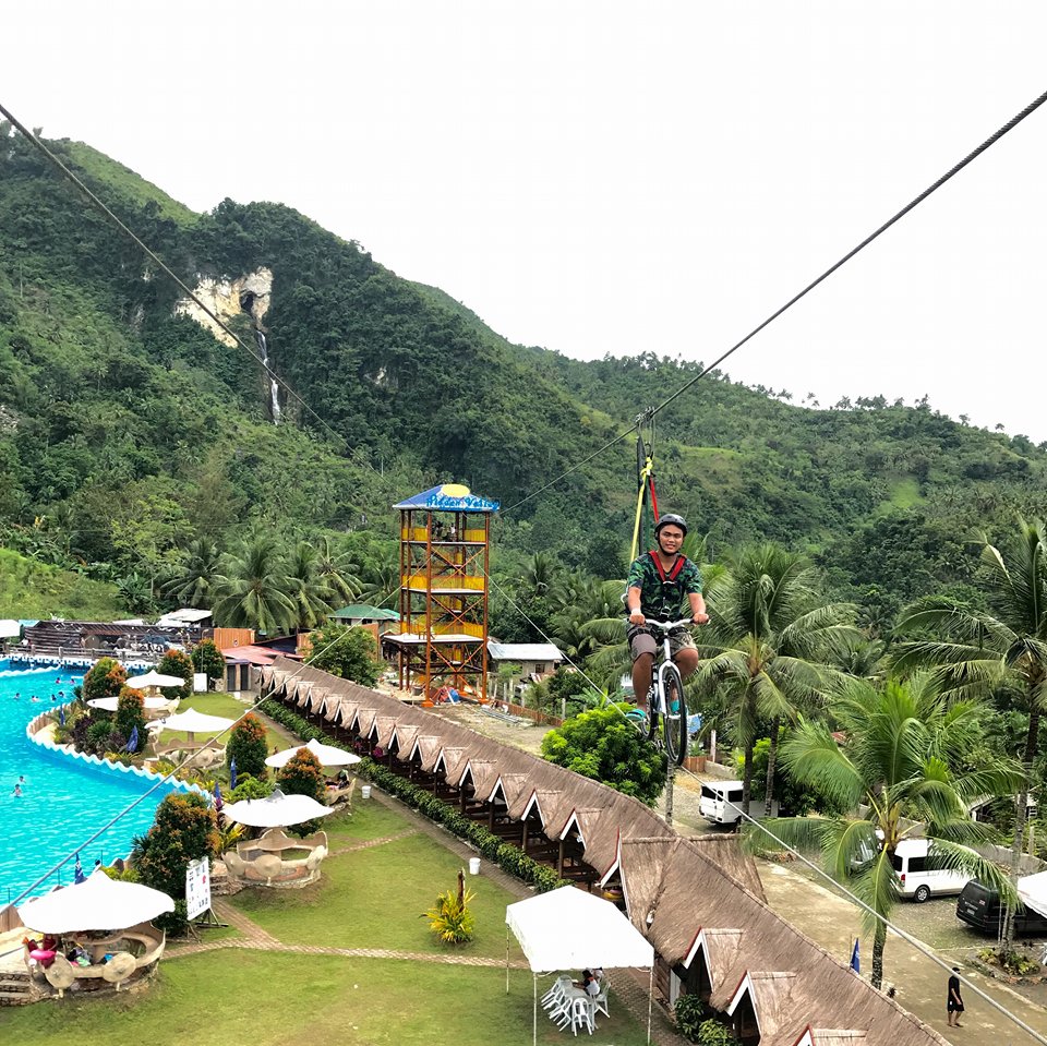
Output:
<instances>
[{"instance_id":1,"label":"palm tree just right of the cyclist, above white van","mask_svg":"<svg viewBox=\"0 0 1047 1046\"><path fill-rule=\"evenodd\" d=\"M783 720L839 687L833 661L859 638L850 603L823 603L801 556L767 543L743 549L708 594L711 628L699 648L696 688L715 694L736 724L745 764L742 808L749 813L753 748L770 722L765 814L770 815Z\"/></svg>"}]
</instances>

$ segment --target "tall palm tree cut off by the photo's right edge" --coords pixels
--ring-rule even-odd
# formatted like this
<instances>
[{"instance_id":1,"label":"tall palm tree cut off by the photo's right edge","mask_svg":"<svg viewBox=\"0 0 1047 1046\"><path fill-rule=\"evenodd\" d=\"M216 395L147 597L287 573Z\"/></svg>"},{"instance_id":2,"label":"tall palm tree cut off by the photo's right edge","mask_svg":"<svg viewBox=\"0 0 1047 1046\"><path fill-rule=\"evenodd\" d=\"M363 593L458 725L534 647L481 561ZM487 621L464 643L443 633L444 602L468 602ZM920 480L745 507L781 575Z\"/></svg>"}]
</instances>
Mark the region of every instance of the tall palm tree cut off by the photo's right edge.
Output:
<instances>
[{"instance_id":1,"label":"tall palm tree cut off by the photo's right edge","mask_svg":"<svg viewBox=\"0 0 1047 1046\"><path fill-rule=\"evenodd\" d=\"M1025 837L1028 784L1039 748L1039 721L1047 709L1047 532L1044 520L1019 518L1007 557L980 536L985 590L994 613L939 601L910 611L899 622L901 634L926 635L901 645L896 664L935 665L947 694L1014 693L1020 695L1028 729L1022 762L1025 777L1015 798L1011 875L1018 876ZM1006 927L1013 945L1012 919Z\"/></svg>"}]
</instances>

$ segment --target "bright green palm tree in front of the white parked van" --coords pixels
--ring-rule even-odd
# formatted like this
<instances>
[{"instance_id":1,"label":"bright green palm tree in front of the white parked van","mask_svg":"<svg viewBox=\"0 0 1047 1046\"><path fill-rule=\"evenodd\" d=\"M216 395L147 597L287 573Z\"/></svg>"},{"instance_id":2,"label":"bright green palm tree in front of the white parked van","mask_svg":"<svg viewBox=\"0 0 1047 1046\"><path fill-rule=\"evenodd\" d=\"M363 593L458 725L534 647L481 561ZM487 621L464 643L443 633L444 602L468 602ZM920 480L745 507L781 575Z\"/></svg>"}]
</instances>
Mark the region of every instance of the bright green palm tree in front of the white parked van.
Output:
<instances>
[{"instance_id":1,"label":"bright green palm tree in front of the white parked van","mask_svg":"<svg viewBox=\"0 0 1047 1046\"><path fill-rule=\"evenodd\" d=\"M866 931L874 934L874 987L883 977L887 926L881 919L890 918L899 899L894 853L920 823L932 840L936 864L1012 895L991 862L961 845L988 839L992 831L970 818L966 801L1007 792L1021 777L1016 764L999 761L986 769L954 769L980 737L983 714L976 702L950 704L927 674L907 684L851 680L831 705L832 719L846 736L842 747L826 723L806 720L782 744L782 762L794 781L816 787L838 809L858 810L766 825L786 843L820 844L827 867L839 879L850 878L852 892L876 913L864 916ZM758 829L751 832L757 843L759 835Z\"/></svg>"}]
</instances>

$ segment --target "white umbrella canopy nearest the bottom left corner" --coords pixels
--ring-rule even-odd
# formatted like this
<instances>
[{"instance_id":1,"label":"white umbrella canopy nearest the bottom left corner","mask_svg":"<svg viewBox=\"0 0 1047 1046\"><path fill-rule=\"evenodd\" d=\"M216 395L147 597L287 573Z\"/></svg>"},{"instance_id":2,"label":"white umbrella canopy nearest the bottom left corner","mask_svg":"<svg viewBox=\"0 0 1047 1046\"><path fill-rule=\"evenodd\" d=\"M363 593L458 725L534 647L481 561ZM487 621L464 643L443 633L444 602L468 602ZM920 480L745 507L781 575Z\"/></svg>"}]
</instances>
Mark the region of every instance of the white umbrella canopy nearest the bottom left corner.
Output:
<instances>
[{"instance_id":1,"label":"white umbrella canopy nearest the bottom left corner","mask_svg":"<svg viewBox=\"0 0 1047 1046\"><path fill-rule=\"evenodd\" d=\"M52 890L19 905L19 915L40 934L127 929L174 911L174 902L139 882L110 879L100 868L83 882Z\"/></svg>"}]
</instances>

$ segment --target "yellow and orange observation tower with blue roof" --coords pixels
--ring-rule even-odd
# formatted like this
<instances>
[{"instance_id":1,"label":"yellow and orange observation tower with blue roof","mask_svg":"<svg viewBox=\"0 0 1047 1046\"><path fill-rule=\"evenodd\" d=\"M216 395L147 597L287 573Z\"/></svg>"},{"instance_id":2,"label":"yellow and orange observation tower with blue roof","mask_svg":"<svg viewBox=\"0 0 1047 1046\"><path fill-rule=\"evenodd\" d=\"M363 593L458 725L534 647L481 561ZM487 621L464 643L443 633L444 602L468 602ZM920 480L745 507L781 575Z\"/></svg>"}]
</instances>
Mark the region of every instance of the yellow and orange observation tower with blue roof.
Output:
<instances>
[{"instance_id":1,"label":"yellow and orange observation tower with blue roof","mask_svg":"<svg viewBox=\"0 0 1047 1046\"><path fill-rule=\"evenodd\" d=\"M400 512L400 687L423 704L450 689L485 699L491 517L498 503L444 483L394 505ZM442 688L447 688L442 690Z\"/></svg>"}]
</instances>

